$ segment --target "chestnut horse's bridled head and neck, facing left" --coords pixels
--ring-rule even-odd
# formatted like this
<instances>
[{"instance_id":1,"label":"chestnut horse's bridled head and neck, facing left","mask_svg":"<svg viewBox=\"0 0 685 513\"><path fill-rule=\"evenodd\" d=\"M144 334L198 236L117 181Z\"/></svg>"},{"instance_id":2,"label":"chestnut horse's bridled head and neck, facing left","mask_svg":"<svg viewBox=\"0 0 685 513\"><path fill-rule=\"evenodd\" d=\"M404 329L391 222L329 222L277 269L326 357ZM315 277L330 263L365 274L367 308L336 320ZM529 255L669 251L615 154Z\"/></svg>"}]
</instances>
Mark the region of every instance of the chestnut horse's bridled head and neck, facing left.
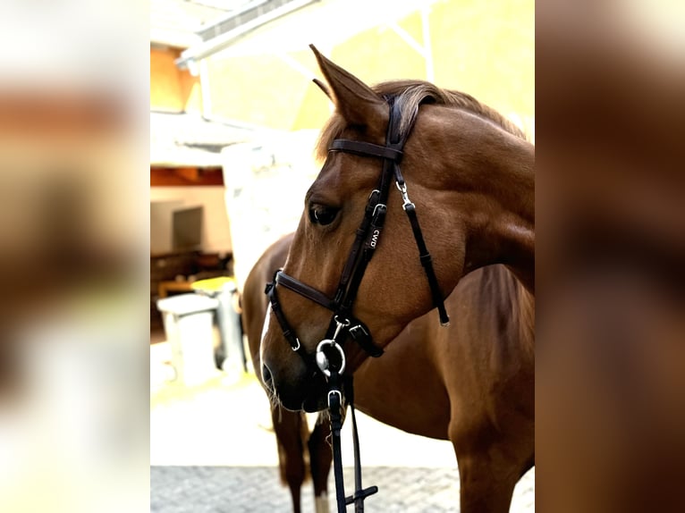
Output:
<instances>
[{"instance_id":1,"label":"chestnut horse's bridled head and neck, facing left","mask_svg":"<svg viewBox=\"0 0 685 513\"><path fill-rule=\"evenodd\" d=\"M285 408L309 411L325 407L314 354L336 328L359 323L379 352L464 273L497 262L532 289L535 159L512 123L468 95L418 80L371 88L312 49L335 112L261 344L265 382ZM430 257L419 258L415 224ZM360 264L362 254L373 258ZM346 342L344 356L351 373L368 354Z\"/></svg>"}]
</instances>

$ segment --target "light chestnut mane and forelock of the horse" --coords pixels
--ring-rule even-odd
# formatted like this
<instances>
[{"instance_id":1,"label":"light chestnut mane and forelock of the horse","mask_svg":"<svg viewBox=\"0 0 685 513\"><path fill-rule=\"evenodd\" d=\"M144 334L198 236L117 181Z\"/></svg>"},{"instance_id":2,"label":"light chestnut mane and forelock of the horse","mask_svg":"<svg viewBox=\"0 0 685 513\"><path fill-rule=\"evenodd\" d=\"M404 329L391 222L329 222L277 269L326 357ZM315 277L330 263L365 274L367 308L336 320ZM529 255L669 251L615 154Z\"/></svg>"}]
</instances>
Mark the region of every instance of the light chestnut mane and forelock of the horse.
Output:
<instances>
[{"instance_id":1,"label":"light chestnut mane and forelock of the horse","mask_svg":"<svg viewBox=\"0 0 685 513\"><path fill-rule=\"evenodd\" d=\"M495 122L503 130L520 139L526 139L523 131L513 122L499 114L492 107L481 104L476 98L461 91L438 88L425 80L389 80L376 84L372 88L381 97L394 98L395 103L402 107L401 133L408 130L410 123L413 121L413 113L417 112L419 105L433 104L467 110L491 122ZM326 158L328 147L330 147L334 139L340 137L345 126L347 124L342 115L335 113L330 117L324 129L321 130L317 142L317 158L321 160Z\"/></svg>"}]
</instances>

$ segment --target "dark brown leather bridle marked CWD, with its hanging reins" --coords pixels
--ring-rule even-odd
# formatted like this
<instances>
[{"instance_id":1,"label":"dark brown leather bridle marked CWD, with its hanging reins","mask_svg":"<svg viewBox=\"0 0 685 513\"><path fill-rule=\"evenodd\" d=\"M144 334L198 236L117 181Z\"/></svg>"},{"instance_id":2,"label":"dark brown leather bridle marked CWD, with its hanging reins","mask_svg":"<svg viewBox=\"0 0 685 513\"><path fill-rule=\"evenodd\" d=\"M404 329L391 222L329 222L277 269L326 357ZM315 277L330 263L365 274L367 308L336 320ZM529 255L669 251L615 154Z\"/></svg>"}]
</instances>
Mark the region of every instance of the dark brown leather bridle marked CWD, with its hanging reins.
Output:
<instances>
[{"instance_id":1,"label":"dark brown leather bridle marked CWD, with its hanging reins","mask_svg":"<svg viewBox=\"0 0 685 513\"><path fill-rule=\"evenodd\" d=\"M394 97L386 98L386 101L390 107L390 119L388 121L385 137L385 146L351 139L334 139L329 148L329 152L342 151L358 156L380 158L383 161L383 169L377 187L371 191L368 197L364 218L359 225L355 240L351 246L350 255L342 269L342 275L334 297L329 298L320 290L300 282L292 276L283 273L283 271L277 271L275 273L274 281L267 284L265 290L275 318L283 331L283 337L288 341L292 350L300 354L300 357L304 358L308 368L312 359L315 359L318 369L326 376L329 388L328 407L331 413L331 426L333 432L335 484L338 493L338 510L341 512L345 511L345 503L351 503L352 501L355 502L356 511L362 511L363 500L371 493L377 491L376 487L371 487L367 490L361 489L359 445L353 408L352 422L355 426L353 436L355 443L356 492L353 496L348 498L348 500L345 500L344 498L342 486L342 460L340 458L335 458L335 453L336 445L337 452L338 454L340 453L340 428L342 427L340 410L343 401L340 375L345 370L345 353L342 349L342 343L347 338L347 335L349 335L351 339L356 341L371 357L379 357L383 354L383 349L376 346L366 324L352 315L352 307L354 305L354 300L357 297L361 280L364 277L368 263L374 256L381 232L383 231L385 214L387 212L387 198L390 194L393 181L402 194L402 208L410 220L411 231L413 232L414 239L419 248L419 260L427 276L433 305L438 309L440 324L443 326L449 325L449 316L444 307L443 293L438 285L432 259L423 239L423 234L416 214L416 206L410 201L407 193L407 184L400 171L402 149L407 142L407 139L409 139L419 109L417 107L410 114L411 117L410 122L408 123L408 129L405 130L404 133L401 133L401 106L395 101ZM288 290L292 290L293 292L300 294L300 296L307 298L322 307L326 307L333 312L326 331L326 338L318 343L315 356L310 355L303 348L300 339L298 339L297 334L285 318L276 291L278 285ZM346 390L347 388L350 389L351 395L351 385L346 387Z\"/></svg>"}]
</instances>

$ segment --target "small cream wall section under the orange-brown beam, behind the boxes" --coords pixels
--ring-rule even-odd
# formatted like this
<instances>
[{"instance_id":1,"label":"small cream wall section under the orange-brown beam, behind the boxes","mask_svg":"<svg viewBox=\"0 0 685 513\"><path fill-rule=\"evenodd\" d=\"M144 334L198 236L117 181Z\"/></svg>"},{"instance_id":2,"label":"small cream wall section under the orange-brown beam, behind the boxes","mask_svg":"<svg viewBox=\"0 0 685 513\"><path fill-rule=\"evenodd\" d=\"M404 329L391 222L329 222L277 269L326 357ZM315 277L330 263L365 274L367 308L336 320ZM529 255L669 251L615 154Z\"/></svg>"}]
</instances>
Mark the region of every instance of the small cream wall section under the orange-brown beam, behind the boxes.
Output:
<instances>
[{"instance_id":1,"label":"small cream wall section under the orange-brown beam, behind the boxes","mask_svg":"<svg viewBox=\"0 0 685 513\"><path fill-rule=\"evenodd\" d=\"M182 201L184 207L204 207L204 218L202 219L203 251L233 251L223 186L150 188L151 202L173 200Z\"/></svg>"}]
</instances>

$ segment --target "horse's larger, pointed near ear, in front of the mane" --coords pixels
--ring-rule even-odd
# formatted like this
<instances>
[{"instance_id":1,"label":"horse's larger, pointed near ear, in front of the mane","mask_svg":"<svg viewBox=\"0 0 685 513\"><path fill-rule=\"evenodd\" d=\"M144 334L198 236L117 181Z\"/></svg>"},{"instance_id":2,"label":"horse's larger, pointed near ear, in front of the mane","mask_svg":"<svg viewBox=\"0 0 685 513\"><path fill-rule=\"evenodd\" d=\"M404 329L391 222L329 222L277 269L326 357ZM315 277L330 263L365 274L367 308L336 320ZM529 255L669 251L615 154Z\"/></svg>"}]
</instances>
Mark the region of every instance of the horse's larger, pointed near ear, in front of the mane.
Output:
<instances>
[{"instance_id":1,"label":"horse's larger, pointed near ear, in front of the mane","mask_svg":"<svg viewBox=\"0 0 685 513\"><path fill-rule=\"evenodd\" d=\"M388 119L388 107L383 98L349 71L326 59L314 45L309 47L317 57L318 66L331 87L331 91L326 94L331 97L330 92L333 92L331 99L345 121L351 125L384 130Z\"/></svg>"}]
</instances>

